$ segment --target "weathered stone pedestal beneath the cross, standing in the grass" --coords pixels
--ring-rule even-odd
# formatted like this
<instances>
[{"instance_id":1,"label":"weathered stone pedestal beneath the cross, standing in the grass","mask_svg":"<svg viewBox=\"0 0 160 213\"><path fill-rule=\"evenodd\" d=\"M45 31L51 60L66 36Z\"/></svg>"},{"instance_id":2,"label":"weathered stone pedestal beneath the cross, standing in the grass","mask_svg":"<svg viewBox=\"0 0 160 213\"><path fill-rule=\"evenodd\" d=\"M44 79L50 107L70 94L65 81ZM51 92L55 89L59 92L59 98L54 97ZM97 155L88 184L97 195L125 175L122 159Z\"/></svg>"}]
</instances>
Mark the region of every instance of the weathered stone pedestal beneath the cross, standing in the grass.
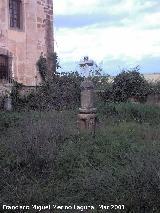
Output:
<instances>
[{"instance_id":1,"label":"weathered stone pedestal beneath the cross, standing in the grass","mask_svg":"<svg viewBox=\"0 0 160 213\"><path fill-rule=\"evenodd\" d=\"M95 134L94 85L89 79L85 79L81 84L81 108L79 108L78 126L80 131Z\"/></svg>"}]
</instances>

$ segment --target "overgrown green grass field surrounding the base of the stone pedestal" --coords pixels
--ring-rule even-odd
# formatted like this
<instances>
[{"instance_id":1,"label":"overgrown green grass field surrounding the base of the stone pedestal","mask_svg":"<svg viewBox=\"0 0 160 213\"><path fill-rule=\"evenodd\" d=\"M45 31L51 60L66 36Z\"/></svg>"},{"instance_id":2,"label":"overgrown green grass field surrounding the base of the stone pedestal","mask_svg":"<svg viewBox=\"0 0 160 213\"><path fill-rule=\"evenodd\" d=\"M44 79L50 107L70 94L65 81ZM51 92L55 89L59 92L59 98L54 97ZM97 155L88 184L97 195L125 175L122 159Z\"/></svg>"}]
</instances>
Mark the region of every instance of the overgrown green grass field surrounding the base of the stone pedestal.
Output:
<instances>
[{"instance_id":1,"label":"overgrown green grass field surrounding the base of the stone pedestal","mask_svg":"<svg viewBox=\"0 0 160 213\"><path fill-rule=\"evenodd\" d=\"M159 111L99 107L95 138L78 133L75 111L2 113L1 124L12 125L0 134L0 203L123 204L122 212L158 213Z\"/></svg>"}]
</instances>

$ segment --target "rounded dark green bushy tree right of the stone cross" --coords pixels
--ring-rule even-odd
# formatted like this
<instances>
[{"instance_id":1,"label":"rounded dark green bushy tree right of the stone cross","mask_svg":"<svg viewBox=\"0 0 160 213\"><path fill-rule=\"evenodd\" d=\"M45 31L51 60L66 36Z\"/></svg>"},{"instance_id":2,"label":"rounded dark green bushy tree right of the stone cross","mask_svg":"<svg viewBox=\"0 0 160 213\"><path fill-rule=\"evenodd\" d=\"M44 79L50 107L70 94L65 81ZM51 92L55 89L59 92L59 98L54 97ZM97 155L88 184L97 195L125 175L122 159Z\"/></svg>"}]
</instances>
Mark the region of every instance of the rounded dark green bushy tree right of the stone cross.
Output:
<instances>
[{"instance_id":1,"label":"rounded dark green bushy tree right of the stone cross","mask_svg":"<svg viewBox=\"0 0 160 213\"><path fill-rule=\"evenodd\" d=\"M115 101L127 101L134 97L144 102L149 92L149 86L139 73L139 66L131 70L123 70L113 81L113 98Z\"/></svg>"}]
</instances>

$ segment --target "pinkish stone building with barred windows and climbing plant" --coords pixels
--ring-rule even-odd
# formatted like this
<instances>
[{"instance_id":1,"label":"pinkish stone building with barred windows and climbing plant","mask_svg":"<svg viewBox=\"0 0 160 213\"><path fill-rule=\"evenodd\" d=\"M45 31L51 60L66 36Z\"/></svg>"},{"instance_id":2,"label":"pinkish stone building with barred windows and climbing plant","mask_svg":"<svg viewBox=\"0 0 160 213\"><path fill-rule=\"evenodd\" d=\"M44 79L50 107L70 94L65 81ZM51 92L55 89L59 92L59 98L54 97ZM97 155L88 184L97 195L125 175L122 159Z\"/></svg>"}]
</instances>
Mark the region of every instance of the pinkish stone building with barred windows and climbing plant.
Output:
<instances>
[{"instance_id":1,"label":"pinkish stone building with barred windows and climbing plant","mask_svg":"<svg viewBox=\"0 0 160 213\"><path fill-rule=\"evenodd\" d=\"M0 84L41 82L37 60L53 52L53 0L0 0Z\"/></svg>"}]
</instances>

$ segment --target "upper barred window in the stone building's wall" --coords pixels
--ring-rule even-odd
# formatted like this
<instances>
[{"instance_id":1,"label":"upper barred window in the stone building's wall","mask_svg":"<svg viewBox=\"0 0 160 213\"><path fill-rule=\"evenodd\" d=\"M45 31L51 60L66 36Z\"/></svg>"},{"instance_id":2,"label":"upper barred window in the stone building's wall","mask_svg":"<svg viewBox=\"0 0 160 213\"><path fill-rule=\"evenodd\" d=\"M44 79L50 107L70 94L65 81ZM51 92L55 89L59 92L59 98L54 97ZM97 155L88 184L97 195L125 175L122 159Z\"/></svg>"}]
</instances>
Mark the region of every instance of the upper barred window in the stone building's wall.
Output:
<instances>
[{"instance_id":1,"label":"upper barred window in the stone building's wall","mask_svg":"<svg viewBox=\"0 0 160 213\"><path fill-rule=\"evenodd\" d=\"M10 27L21 28L21 1L9 0Z\"/></svg>"}]
</instances>

